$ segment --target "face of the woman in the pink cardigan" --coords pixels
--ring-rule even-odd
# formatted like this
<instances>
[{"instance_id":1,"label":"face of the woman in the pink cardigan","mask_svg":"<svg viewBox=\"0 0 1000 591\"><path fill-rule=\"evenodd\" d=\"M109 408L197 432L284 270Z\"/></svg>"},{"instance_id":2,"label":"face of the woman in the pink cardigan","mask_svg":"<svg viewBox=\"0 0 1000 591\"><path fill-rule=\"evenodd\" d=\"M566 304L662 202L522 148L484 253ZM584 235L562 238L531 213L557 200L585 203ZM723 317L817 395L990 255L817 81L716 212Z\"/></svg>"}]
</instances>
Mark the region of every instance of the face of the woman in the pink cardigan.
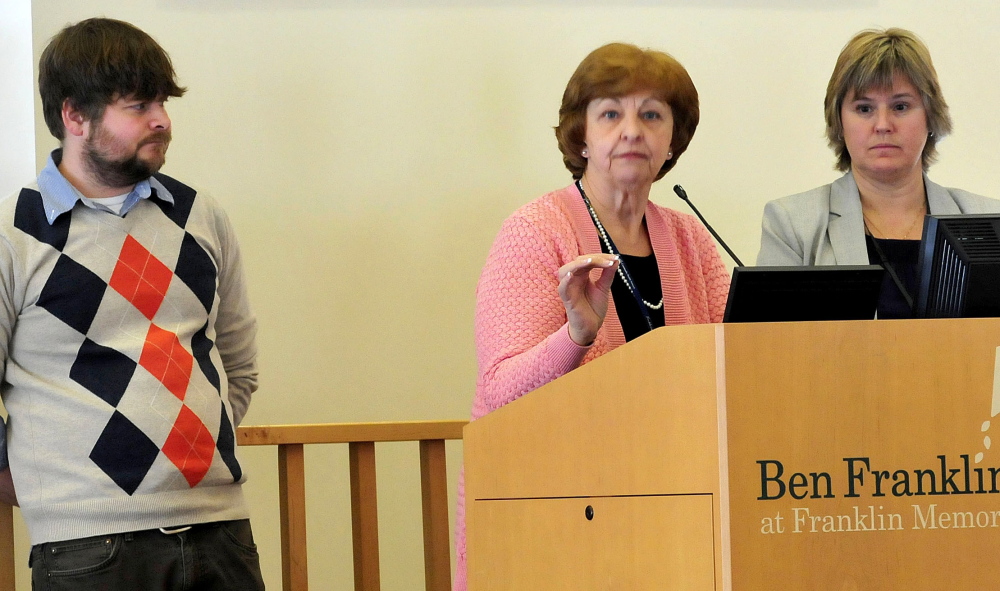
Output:
<instances>
[{"instance_id":1,"label":"face of the woman in the pink cardigan","mask_svg":"<svg viewBox=\"0 0 1000 591\"><path fill-rule=\"evenodd\" d=\"M648 187L670 157L674 117L652 92L597 98L587 105L586 175L617 188Z\"/></svg>"}]
</instances>

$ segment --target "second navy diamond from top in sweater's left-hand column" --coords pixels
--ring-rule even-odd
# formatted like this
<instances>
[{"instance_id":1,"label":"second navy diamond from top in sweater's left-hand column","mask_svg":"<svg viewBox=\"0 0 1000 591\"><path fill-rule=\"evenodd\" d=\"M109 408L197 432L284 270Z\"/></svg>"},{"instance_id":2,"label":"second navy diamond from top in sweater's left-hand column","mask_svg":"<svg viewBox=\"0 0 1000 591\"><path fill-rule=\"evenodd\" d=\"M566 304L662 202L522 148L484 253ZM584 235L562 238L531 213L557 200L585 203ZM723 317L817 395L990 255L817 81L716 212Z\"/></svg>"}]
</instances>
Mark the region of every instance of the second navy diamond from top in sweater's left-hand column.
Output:
<instances>
[{"instance_id":1,"label":"second navy diamond from top in sweater's left-hand column","mask_svg":"<svg viewBox=\"0 0 1000 591\"><path fill-rule=\"evenodd\" d=\"M107 288L108 284L93 271L66 255L59 255L38 296L38 305L85 335Z\"/></svg>"}]
</instances>

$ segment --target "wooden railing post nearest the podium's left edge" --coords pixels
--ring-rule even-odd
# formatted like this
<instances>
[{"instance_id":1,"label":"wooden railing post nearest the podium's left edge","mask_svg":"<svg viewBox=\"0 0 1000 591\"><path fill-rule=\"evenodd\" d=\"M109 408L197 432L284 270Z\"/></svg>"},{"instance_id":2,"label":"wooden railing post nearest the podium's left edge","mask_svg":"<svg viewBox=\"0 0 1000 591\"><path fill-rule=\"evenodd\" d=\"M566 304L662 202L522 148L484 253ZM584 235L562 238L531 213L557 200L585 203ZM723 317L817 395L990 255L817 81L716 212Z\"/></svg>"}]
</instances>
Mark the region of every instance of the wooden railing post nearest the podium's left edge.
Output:
<instances>
[{"instance_id":1,"label":"wooden railing post nearest the podium's left edge","mask_svg":"<svg viewBox=\"0 0 1000 591\"><path fill-rule=\"evenodd\" d=\"M424 505L424 581L427 591L451 590L446 461L443 439L420 442L420 496Z\"/></svg>"}]
</instances>

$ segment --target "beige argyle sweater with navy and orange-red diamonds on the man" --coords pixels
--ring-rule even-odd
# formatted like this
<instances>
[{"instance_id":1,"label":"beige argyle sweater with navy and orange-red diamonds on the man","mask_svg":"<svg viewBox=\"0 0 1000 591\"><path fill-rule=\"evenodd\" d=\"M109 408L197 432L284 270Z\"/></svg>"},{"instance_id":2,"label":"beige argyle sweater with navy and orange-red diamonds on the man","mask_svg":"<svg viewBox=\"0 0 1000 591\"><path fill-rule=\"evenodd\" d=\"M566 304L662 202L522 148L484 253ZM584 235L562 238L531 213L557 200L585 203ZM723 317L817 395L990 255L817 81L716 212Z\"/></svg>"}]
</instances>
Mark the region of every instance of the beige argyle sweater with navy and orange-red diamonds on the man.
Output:
<instances>
[{"instance_id":1,"label":"beige argyle sweater with navy and orange-red diamonds on the man","mask_svg":"<svg viewBox=\"0 0 1000 591\"><path fill-rule=\"evenodd\" d=\"M0 394L32 544L248 516L239 249L210 198L152 180L124 217L77 202L50 225L37 184L0 202Z\"/></svg>"}]
</instances>

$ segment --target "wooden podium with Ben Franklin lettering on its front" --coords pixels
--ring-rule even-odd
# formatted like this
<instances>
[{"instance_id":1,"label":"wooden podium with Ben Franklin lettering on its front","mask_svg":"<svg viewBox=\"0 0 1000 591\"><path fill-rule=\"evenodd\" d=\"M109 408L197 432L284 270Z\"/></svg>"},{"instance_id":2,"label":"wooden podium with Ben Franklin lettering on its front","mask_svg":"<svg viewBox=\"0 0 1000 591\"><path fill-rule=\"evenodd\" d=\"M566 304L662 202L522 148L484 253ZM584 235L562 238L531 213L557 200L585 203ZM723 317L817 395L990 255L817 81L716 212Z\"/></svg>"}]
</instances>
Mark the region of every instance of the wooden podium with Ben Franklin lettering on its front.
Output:
<instances>
[{"instance_id":1,"label":"wooden podium with Ben Franklin lettering on its front","mask_svg":"<svg viewBox=\"0 0 1000 591\"><path fill-rule=\"evenodd\" d=\"M469 589L998 588L998 346L1000 319L656 330L466 427Z\"/></svg>"}]
</instances>

